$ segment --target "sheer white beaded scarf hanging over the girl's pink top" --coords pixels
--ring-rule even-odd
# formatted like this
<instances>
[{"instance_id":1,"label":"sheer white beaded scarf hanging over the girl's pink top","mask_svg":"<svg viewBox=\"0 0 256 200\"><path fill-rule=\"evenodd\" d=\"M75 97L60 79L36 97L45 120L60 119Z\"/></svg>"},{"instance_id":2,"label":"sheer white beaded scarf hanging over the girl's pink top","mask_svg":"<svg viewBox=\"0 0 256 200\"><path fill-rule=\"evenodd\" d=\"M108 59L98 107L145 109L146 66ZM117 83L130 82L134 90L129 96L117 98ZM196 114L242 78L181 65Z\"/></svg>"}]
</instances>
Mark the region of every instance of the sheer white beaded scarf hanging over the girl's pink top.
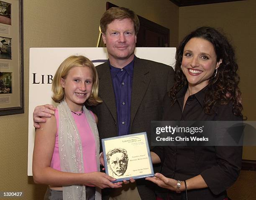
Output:
<instances>
[{"instance_id":1,"label":"sheer white beaded scarf hanging over the girl's pink top","mask_svg":"<svg viewBox=\"0 0 256 200\"><path fill-rule=\"evenodd\" d=\"M58 105L59 111L59 157L63 172L84 173L82 143L72 112L64 100ZM100 171L100 140L94 117L85 106L83 111L92 130L96 147L97 171ZM89 160L88 160L88 163ZM63 186L63 200L86 200L85 185ZM101 190L96 187L95 200L101 200Z\"/></svg>"}]
</instances>

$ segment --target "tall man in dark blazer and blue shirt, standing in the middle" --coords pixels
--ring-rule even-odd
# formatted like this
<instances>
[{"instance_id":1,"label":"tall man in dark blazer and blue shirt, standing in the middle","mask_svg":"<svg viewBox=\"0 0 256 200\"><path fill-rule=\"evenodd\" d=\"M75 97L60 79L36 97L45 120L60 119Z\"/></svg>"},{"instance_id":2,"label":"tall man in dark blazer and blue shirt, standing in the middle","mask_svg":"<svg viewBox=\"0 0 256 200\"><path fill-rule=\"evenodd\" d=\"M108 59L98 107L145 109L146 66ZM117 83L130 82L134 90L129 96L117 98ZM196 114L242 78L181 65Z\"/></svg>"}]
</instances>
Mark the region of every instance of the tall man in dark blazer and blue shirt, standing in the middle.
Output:
<instances>
[{"instance_id":1,"label":"tall man in dark blazer and blue shirt, standing in the middle","mask_svg":"<svg viewBox=\"0 0 256 200\"><path fill-rule=\"evenodd\" d=\"M109 56L108 62L96 67L103 102L91 108L99 118L100 139L146 131L150 144L151 121L161 120L162 101L173 85L174 70L134 55L139 20L133 11L110 8L102 16L100 28ZM39 107L34 111L35 122L42 122L39 111ZM137 180L120 190L103 190L102 199L155 200L151 186Z\"/></svg>"}]
</instances>

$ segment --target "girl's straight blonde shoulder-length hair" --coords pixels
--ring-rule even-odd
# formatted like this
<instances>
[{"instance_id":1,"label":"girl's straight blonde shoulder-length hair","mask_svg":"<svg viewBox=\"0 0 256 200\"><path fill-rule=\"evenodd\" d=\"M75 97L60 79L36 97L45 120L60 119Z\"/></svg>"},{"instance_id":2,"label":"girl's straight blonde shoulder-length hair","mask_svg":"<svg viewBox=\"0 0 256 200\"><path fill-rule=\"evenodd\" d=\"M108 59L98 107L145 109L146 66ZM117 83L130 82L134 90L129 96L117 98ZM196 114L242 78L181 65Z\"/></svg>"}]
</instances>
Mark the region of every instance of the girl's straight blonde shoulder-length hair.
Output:
<instances>
[{"instance_id":1,"label":"girl's straight blonde shoulder-length hair","mask_svg":"<svg viewBox=\"0 0 256 200\"><path fill-rule=\"evenodd\" d=\"M93 73L93 85L92 85L92 94L89 99L86 101L87 105L97 105L102 102L100 97L98 97L99 91L99 79L95 66L92 64L87 57L82 55L76 56L72 55L66 58L61 65L59 65L52 82L51 90L54 95L52 99L55 102L61 102L64 100L64 88L61 87L61 78L65 79L73 67L89 67Z\"/></svg>"}]
</instances>

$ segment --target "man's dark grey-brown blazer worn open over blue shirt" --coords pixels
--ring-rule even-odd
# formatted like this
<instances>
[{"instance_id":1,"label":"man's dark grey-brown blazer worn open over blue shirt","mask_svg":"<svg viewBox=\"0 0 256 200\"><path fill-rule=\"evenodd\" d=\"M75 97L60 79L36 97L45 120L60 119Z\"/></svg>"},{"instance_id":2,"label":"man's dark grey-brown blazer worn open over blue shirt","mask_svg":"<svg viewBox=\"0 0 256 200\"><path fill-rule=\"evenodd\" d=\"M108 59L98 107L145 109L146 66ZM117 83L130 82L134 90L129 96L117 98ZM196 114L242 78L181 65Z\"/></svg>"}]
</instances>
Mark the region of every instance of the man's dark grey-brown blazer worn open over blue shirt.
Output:
<instances>
[{"instance_id":1,"label":"man's dark grey-brown blazer worn open over blue shirt","mask_svg":"<svg viewBox=\"0 0 256 200\"><path fill-rule=\"evenodd\" d=\"M92 107L99 118L97 127L100 139L118 136L115 95L108 62L96 67L99 75L99 96L103 102ZM131 134L147 132L151 144L151 121L161 120L163 99L173 86L174 70L168 65L138 57L134 61L131 95ZM154 191L137 180L142 200L155 199ZM143 182L143 181L142 181ZM103 192L104 193L104 192ZM103 194L104 195L104 194Z\"/></svg>"}]
</instances>

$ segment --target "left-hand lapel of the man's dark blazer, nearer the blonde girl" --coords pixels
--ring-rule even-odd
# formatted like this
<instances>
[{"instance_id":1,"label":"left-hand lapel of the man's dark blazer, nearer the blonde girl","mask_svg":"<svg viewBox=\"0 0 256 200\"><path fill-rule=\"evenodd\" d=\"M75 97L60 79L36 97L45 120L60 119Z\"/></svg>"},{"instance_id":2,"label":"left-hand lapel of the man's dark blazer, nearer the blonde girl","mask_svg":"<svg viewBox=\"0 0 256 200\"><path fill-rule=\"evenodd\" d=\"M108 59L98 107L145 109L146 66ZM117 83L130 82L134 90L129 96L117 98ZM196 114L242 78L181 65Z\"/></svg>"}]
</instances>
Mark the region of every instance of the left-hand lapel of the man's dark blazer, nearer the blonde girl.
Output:
<instances>
[{"instance_id":1,"label":"left-hand lapel of the man's dark blazer, nearer the blonde girl","mask_svg":"<svg viewBox=\"0 0 256 200\"><path fill-rule=\"evenodd\" d=\"M97 67L96 67L97 68ZM105 62L100 66L100 70L98 70L99 74L99 95L103 100L103 103L108 107L115 123L117 123L117 114L115 107L115 94L113 90L113 84L110 75L110 69L108 62Z\"/></svg>"}]
</instances>

